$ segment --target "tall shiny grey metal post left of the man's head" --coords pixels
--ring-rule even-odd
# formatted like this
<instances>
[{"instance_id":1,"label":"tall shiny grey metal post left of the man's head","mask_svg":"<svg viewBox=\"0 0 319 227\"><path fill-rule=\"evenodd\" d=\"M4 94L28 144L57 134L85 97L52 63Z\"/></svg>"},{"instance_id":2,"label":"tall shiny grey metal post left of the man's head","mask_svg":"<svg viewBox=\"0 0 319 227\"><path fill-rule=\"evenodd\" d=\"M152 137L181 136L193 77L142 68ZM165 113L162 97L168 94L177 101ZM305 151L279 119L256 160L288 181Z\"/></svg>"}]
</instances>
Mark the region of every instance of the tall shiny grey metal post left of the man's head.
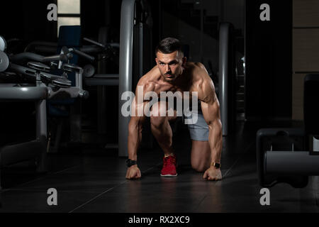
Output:
<instances>
[{"instance_id":1,"label":"tall shiny grey metal post left of the man's head","mask_svg":"<svg viewBox=\"0 0 319 227\"><path fill-rule=\"evenodd\" d=\"M118 156L128 155L129 117L121 114L123 92L132 90L133 27L135 0L123 0L121 6L120 71L118 84Z\"/></svg>"}]
</instances>

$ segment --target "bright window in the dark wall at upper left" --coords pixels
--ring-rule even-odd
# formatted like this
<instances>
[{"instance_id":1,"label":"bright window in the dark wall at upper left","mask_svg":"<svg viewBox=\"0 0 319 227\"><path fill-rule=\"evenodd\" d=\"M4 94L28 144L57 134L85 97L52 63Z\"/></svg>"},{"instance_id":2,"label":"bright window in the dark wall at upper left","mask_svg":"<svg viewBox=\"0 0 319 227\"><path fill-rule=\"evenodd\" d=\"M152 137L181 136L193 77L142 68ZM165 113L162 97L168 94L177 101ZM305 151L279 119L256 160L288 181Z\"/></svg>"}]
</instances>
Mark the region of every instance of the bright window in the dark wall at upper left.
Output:
<instances>
[{"instance_id":1,"label":"bright window in the dark wall at upper left","mask_svg":"<svg viewBox=\"0 0 319 227\"><path fill-rule=\"evenodd\" d=\"M60 26L81 25L80 0L57 0L57 36Z\"/></svg>"}]
</instances>

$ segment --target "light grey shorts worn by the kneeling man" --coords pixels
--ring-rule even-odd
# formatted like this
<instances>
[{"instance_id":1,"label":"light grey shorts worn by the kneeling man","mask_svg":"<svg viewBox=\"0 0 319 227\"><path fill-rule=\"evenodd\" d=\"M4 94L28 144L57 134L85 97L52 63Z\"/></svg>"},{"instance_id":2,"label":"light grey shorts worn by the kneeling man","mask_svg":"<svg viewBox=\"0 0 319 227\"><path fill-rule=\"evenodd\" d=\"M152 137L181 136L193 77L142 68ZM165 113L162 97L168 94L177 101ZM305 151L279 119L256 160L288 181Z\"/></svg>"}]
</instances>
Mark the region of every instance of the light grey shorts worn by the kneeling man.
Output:
<instances>
[{"instance_id":1,"label":"light grey shorts worn by the kneeling man","mask_svg":"<svg viewBox=\"0 0 319 227\"><path fill-rule=\"evenodd\" d=\"M197 121L195 114L197 114ZM205 118L203 118L200 104L198 104L198 111L192 111L191 116L184 116L184 118L193 122L187 124L192 140L208 141L209 129Z\"/></svg>"}]
</instances>

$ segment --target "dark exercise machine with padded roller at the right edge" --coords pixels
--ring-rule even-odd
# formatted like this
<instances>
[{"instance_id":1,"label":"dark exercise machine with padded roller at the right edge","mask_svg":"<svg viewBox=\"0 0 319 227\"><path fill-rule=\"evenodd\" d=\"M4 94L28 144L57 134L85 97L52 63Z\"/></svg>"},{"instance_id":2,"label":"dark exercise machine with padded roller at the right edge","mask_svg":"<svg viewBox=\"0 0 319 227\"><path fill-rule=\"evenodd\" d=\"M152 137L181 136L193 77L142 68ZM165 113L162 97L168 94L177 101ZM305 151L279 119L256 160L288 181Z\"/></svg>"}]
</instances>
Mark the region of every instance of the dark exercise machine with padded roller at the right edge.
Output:
<instances>
[{"instance_id":1,"label":"dark exercise machine with padded roller at the right edge","mask_svg":"<svg viewBox=\"0 0 319 227\"><path fill-rule=\"evenodd\" d=\"M257 170L259 184L272 187L279 182L302 188L308 176L319 175L319 74L304 79L304 128L262 128L257 132Z\"/></svg>"}]
</instances>

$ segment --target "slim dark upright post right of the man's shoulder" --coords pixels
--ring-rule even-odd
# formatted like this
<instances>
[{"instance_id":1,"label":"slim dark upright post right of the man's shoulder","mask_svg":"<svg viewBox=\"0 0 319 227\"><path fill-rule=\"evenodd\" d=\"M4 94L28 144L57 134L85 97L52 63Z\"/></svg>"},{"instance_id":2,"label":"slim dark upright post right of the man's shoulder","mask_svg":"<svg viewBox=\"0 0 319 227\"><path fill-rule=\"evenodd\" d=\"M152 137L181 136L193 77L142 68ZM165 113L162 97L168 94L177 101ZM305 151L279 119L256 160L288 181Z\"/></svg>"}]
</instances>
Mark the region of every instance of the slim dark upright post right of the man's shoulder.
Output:
<instances>
[{"instance_id":1,"label":"slim dark upright post right of the man's shoulder","mask_svg":"<svg viewBox=\"0 0 319 227\"><path fill-rule=\"evenodd\" d=\"M219 101L223 135L228 135L228 43L230 23L220 23L219 31Z\"/></svg>"}]
</instances>

